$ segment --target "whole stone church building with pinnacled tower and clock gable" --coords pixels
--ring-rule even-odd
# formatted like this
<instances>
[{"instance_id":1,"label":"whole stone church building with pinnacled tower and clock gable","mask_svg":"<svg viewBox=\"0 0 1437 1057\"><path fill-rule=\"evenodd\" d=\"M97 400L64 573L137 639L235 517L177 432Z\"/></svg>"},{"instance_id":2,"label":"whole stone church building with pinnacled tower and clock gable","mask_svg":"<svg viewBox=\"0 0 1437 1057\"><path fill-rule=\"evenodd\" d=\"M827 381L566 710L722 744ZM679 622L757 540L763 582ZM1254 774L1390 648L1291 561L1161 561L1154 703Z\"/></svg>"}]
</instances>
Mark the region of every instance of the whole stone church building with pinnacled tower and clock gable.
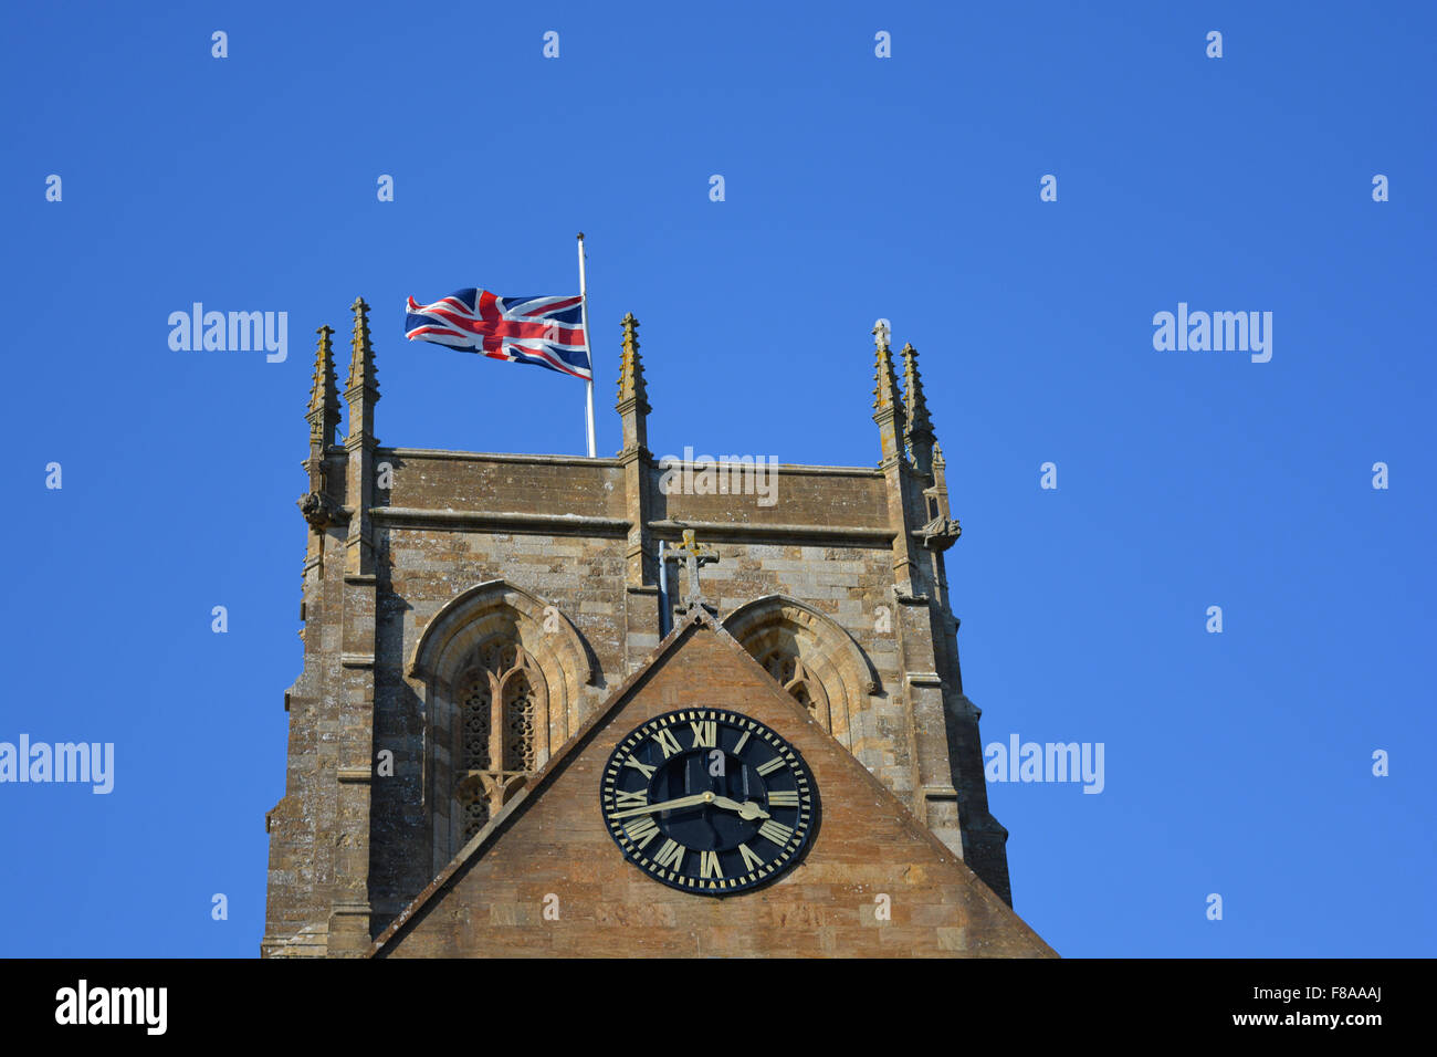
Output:
<instances>
[{"instance_id":1,"label":"whole stone church building with pinnacled tower and clock gable","mask_svg":"<svg viewBox=\"0 0 1437 1057\"><path fill-rule=\"evenodd\" d=\"M310 388L264 956L1017 955L918 372L877 467L387 447L356 299ZM901 384L900 384L901 377Z\"/></svg>"}]
</instances>

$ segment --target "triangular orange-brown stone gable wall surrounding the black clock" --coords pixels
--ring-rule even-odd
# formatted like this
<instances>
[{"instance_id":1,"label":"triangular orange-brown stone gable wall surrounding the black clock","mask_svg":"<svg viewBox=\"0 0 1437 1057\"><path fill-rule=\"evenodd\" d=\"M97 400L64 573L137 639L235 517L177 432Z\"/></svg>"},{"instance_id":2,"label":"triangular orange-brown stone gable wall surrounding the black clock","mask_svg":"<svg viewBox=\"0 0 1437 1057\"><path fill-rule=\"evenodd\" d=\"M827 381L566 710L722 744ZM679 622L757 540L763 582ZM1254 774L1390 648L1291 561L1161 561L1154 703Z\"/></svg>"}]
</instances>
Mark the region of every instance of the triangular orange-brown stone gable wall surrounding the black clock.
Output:
<instances>
[{"instance_id":1,"label":"triangular orange-brown stone gable wall surrounding the black clock","mask_svg":"<svg viewBox=\"0 0 1437 1057\"><path fill-rule=\"evenodd\" d=\"M818 785L821 818L805 856L756 890L713 897L662 886L619 854L605 827L599 778L614 746L645 720L688 708L766 723L803 756ZM371 953L1053 956L701 613L675 627Z\"/></svg>"}]
</instances>

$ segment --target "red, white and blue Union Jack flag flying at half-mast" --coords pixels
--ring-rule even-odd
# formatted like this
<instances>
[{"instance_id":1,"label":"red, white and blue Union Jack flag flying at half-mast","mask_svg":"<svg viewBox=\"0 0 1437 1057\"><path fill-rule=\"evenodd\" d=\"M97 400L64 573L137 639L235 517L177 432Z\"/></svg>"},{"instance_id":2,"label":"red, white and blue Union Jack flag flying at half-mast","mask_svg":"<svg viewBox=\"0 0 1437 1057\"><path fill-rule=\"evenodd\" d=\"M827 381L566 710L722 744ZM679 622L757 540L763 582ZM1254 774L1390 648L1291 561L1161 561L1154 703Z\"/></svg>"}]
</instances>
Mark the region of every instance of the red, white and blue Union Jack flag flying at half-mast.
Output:
<instances>
[{"instance_id":1,"label":"red, white and blue Union Jack flag flying at half-mast","mask_svg":"<svg viewBox=\"0 0 1437 1057\"><path fill-rule=\"evenodd\" d=\"M578 296L500 298L470 288L433 305L410 298L404 337L593 380Z\"/></svg>"}]
</instances>

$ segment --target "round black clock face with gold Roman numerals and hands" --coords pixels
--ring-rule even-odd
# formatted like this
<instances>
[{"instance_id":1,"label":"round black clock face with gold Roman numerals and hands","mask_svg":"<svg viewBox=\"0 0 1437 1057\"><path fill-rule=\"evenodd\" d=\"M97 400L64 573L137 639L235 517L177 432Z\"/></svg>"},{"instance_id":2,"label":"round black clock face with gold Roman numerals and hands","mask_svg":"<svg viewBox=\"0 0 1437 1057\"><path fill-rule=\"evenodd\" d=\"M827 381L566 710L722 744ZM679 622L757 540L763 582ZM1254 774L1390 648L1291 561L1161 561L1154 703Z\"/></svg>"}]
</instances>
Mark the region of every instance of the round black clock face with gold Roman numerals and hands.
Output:
<instances>
[{"instance_id":1,"label":"round black clock face with gold Roman numerals and hands","mask_svg":"<svg viewBox=\"0 0 1437 1057\"><path fill-rule=\"evenodd\" d=\"M604 821L625 859L684 892L727 896L798 861L818 817L803 758L726 709L655 716L604 768Z\"/></svg>"}]
</instances>

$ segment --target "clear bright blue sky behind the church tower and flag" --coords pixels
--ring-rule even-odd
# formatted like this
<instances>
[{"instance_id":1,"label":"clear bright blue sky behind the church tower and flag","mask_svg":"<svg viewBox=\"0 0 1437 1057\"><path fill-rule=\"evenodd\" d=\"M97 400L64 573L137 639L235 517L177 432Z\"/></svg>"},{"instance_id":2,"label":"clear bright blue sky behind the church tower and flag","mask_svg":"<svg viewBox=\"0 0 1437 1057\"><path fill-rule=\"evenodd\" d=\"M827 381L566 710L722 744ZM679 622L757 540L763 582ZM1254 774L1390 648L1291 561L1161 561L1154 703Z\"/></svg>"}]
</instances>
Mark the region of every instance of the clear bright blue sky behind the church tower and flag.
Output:
<instances>
[{"instance_id":1,"label":"clear bright blue sky behind the church tower and flag","mask_svg":"<svg viewBox=\"0 0 1437 1057\"><path fill-rule=\"evenodd\" d=\"M375 306L387 444L578 453L579 383L402 341L411 293L572 290L578 230L601 453L628 311L655 454L874 465L874 319L920 349L984 741L1105 745L1101 795L990 787L1059 952L1437 953L1434 35L1415 3L16 14L0 741L115 742L116 777L0 785L0 953L257 953L313 329L343 361ZM289 358L171 351L197 301L287 312ZM1155 351L1178 302L1272 312L1272 361Z\"/></svg>"}]
</instances>

